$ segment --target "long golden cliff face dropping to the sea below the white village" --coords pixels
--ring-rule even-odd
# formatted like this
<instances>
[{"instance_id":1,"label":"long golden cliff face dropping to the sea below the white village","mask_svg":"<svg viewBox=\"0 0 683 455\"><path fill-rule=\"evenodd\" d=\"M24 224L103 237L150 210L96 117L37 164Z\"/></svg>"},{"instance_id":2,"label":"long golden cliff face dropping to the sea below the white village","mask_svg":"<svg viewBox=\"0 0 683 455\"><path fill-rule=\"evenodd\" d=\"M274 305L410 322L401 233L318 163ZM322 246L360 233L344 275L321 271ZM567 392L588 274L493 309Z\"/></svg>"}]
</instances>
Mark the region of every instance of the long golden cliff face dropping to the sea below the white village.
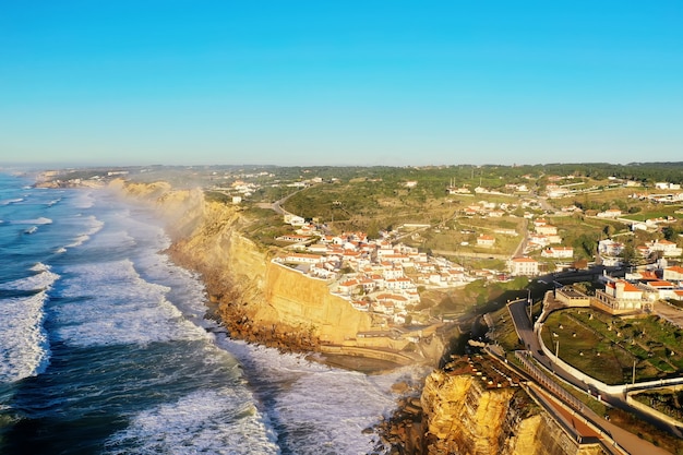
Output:
<instances>
[{"instance_id":1,"label":"long golden cliff face dropping to the sea below the white village","mask_svg":"<svg viewBox=\"0 0 683 455\"><path fill-rule=\"evenodd\" d=\"M231 336L283 349L316 350L370 328L367 313L329 294L323 280L271 262L241 234L249 223L237 206L206 202L201 190L171 190L166 183L113 183L151 203L167 220L169 254L197 271Z\"/></svg>"}]
</instances>

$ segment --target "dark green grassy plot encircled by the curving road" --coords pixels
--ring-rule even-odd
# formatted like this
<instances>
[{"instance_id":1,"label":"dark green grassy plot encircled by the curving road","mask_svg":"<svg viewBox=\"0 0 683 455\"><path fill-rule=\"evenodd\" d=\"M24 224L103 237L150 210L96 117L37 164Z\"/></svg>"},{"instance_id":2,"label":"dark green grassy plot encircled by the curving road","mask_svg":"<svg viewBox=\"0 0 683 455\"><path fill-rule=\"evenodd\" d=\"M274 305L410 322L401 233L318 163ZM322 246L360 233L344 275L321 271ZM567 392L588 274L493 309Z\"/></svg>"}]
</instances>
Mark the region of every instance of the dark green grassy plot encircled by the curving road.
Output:
<instances>
[{"instance_id":1,"label":"dark green grassy plot encircled by the curving road","mask_svg":"<svg viewBox=\"0 0 683 455\"><path fill-rule=\"evenodd\" d=\"M649 381L683 370L683 331L656 316L624 320L588 309L552 313L543 343L607 384ZM558 349L559 344L559 349Z\"/></svg>"}]
</instances>

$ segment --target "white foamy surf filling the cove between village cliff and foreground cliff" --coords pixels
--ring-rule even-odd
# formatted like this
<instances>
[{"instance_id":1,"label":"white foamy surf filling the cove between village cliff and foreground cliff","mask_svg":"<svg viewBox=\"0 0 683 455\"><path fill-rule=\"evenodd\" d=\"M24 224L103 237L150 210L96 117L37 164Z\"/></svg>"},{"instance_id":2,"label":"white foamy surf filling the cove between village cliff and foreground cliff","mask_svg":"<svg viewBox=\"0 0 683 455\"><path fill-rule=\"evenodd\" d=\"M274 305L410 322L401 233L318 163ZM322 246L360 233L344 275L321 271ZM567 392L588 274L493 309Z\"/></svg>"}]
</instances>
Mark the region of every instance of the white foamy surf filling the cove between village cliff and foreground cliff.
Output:
<instances>
[{"instance_id":1,"label":"white foamy surf filling the cove between village cliff and foreground cliff","mask_svg":"<svg viewBox=\"0 0 683 455\"><path fill-rule=\"evenodd\" d=\"M420 368L407 368L366 375L241 342L223 339L219 345L238 357L248 378L259 378L256 395L267 402L269 420L278 433L291 435L284 438L283 448L301 455L372 452L378 436L363 430L395 408L392 384L416 383L424 374ZM274 385L273 394L267 388Z\"/></svg>"}]
</instances>

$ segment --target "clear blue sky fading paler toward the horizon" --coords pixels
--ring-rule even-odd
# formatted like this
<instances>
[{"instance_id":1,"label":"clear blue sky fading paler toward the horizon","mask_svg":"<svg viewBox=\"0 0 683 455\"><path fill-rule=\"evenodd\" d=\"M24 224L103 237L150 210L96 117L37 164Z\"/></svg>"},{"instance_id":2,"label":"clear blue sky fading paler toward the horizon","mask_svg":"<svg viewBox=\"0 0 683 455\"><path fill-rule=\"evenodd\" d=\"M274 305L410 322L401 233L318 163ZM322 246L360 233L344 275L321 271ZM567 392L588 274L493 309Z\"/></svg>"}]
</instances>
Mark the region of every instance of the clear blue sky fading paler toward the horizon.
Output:
<instances>
[{"instance_id":1,"label":"clear blue sky fading paler toward the horizon","mask_svg":"<svg viewBox=\"0 0 683 455\"><path fill-rule=\"evenodd\" d=\"M0 164L683 160L680 1L5 1Z\"/></svg>"}]
</instances>

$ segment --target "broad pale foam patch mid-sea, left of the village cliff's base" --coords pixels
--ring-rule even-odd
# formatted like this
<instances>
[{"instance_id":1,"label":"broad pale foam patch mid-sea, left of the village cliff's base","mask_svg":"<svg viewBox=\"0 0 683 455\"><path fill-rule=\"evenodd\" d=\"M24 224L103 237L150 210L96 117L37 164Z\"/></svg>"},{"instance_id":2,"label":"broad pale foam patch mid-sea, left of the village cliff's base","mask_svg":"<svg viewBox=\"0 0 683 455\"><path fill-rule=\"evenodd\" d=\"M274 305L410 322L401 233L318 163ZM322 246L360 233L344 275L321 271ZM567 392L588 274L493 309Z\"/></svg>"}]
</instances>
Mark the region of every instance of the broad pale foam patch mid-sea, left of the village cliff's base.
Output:
<instances>
[{"instance_id":1,"label":"broad pale foam patch mid-sea, left of the village cliff's base","mask_svg":"<svg viewBox=\"0 0 683 455\"><path fill-rule=\"evenodd\" d=\"M208 335L187 321L167 299L170 288L147 283L129 260L65 267L56 306L56 335L74 346L146 344L205 339Z\"/></svg>"}]
</instances>

